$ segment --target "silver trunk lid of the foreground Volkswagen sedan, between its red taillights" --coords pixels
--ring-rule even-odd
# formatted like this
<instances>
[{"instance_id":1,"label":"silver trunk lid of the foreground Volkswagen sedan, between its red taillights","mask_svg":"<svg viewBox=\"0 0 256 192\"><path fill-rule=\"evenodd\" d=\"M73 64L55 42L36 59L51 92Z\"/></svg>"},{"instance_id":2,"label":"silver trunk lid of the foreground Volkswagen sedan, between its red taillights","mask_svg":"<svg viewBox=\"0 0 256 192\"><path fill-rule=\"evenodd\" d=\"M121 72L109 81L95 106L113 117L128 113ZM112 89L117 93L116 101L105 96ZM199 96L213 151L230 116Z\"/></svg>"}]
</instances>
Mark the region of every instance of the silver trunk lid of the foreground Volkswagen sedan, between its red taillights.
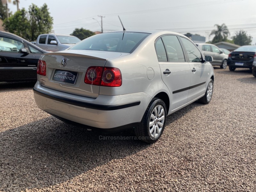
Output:
<instances>
[{"instance_id":1,"label":"silver trunk lid of the foreground Volkswagen sedan, between its red taillights","mask_svg":"<svg viewBox=\"0 0 256 192\"><path fill-rule=\"evenodd\" d=\"M42 86L53 90L97 98L100 86L84 83L87 68L91 66L104 67L108 59L128 54L88 50L46 53L41 58L46 62L46 76L40 76L39 80ZM61 61L64 58L67 62L62 66ZM66 80L69 78L70 81Z\"/></svg>"}]
</instances>

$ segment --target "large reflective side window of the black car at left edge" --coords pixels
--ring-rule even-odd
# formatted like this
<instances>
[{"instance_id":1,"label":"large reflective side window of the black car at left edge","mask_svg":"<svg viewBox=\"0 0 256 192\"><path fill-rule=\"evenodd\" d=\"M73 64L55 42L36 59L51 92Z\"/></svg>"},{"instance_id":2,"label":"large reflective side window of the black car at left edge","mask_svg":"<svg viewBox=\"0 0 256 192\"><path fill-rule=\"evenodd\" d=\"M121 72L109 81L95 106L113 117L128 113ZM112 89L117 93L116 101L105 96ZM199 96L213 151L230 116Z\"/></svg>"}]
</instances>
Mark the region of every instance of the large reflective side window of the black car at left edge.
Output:
<instances>
[{"instance_id":1,"label":"large reflective side window of the black car at left edge","mask_svg":"<svg viewBox=\"0 0 256 192\"><path fill-rule=\"evenodd\" d=\"M19 52L24 48L24 44L20 41L0 36L0 51L2 52Z\"/></svg>"}]
</instances>

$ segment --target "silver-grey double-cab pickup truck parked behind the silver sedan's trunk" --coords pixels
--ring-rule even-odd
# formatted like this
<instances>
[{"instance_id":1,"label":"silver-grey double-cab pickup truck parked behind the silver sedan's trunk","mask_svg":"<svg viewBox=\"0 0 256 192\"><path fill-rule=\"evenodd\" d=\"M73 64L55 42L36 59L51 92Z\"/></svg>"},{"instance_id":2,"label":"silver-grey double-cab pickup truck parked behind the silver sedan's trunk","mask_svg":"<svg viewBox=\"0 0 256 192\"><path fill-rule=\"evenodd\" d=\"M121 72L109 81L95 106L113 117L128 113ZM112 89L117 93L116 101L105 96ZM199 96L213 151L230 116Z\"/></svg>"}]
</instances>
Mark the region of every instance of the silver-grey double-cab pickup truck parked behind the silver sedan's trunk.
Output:
<instances>
[{"instance_id":1,"label":"silver-grey double-cab pickup truck parked behind the silver sedan's trunk","mask_svg":"<svg viewBox=\"0 0 256 192\"><path fill-rule=\"evenodd\" d=\"M36 46L46 51L62 51L81 41L71 35L41 34L36 39Z\"/></svg>"}]
</instances>

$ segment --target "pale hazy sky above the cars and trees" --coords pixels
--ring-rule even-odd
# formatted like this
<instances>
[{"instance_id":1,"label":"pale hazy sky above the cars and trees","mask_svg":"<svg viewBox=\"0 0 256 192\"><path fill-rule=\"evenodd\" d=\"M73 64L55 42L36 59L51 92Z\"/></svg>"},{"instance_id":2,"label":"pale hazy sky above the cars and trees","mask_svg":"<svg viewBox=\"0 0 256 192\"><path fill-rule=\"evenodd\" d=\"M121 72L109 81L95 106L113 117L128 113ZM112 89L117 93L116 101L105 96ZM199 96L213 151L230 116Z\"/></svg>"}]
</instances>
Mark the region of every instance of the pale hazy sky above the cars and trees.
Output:
<instances>
[{"instance_id":1,"label":"pale hazy sky above the cars and trees","mask_svg":"<svg viewBox=\"0 0 256 192\"><path fill-rule=\"evenodd\" d=\"M47 4L56 34L69 35L75 28L103 32L126 29L161 29L185 34L199 34L211 40L215 24L225 23L230 36L243 29L256 43L256 0L20 0L28 10L32 3ZM9 4L12 12L16 5ZM95 20L93 20L94 18ZM98 22L97 22L98 21Z\"/></svg>"}]
</instances>

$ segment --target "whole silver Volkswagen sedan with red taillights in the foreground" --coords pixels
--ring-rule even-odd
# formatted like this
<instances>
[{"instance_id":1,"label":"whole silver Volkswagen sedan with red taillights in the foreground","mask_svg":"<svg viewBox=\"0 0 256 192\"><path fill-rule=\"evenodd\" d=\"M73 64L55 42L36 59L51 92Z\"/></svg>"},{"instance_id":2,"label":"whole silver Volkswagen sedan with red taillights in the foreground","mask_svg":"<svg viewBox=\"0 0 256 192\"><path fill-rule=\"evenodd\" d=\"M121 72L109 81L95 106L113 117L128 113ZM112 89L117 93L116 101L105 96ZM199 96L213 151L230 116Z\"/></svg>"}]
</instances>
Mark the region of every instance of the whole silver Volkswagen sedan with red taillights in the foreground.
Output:
<instances>
[{"instance_id":1,"label":"whole silver Volkswagen sedan with red taillights in the foreground","mask_svg":"<svg viewBox=\"0 0 256 192\"><path fill-rule=\"evenodd\" d=\"M207 57L212 61L212 57ZM153 143L166 116L212 98L214 73L197 46L169 31L91 36L38 62L39 108L68 122L108 130L134 128Z\"/></svg>"}]
</instances>

